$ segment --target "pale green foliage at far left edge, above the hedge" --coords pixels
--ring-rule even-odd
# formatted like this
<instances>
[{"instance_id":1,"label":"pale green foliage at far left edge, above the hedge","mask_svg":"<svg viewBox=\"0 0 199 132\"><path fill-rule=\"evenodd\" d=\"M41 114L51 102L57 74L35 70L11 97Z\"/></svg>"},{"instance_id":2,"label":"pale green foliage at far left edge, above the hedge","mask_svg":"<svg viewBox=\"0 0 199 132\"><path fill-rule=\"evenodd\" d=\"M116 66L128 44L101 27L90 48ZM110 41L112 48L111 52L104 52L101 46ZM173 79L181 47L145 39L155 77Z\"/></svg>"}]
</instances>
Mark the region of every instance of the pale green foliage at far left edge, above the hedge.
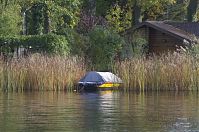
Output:
<instances>
[{"instance_id":1,"label":"pale green foliage at far left edge, above the hedge","mask_svg":"<svg viewBox=\"0 0 199 132\"><path fill-rule=\"evenodd\" d=\"M7 6L0 9L0 35L17 35L20 34L21 16L20 6Z\"/></svg>"}]
</instances>

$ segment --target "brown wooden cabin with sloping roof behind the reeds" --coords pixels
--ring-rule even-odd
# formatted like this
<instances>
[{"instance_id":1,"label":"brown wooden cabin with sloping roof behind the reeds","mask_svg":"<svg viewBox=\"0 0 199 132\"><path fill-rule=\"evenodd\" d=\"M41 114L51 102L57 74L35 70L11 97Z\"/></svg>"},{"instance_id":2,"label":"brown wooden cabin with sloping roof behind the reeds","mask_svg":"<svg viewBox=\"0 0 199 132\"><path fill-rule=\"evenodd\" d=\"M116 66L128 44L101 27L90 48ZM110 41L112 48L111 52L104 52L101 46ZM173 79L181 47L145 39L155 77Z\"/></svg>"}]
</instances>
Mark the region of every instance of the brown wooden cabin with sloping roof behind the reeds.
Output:
<instances>
[{"instance_id":1,"label":"brown wooden cabin with sloping roof behind the reeds","mask_svg":"<svg viewBox=\"0 0 199 132\"><path fill-rule=\"evenodd\" d=\"M180 46L190 46L199 38L199 23L146 21L123 33L132 41L133 33L141 31L148 43L149 53L175 51Z\"/></svg>"}]
</instances>

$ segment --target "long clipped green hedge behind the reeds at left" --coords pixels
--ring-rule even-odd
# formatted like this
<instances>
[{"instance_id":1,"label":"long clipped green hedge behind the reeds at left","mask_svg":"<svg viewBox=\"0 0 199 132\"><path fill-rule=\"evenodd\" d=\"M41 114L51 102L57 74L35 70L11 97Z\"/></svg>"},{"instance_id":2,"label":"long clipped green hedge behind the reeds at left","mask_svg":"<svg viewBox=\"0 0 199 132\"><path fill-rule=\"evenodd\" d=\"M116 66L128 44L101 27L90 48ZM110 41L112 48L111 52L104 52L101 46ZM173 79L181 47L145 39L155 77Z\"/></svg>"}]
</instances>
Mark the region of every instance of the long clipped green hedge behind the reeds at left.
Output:
<instances>
[{"instance_id":1,"label":"long clipped green hedge behind the reeds at left","mask_svg":"<svg viewBox=\"0 0 199 132\"><path fill-rule=\"evenodd\" d=\"M59 35L0 36L0 52L14 53L16 48L25 48L31 53L69 54L68 41Z\"/></svg>"}]
</instances>

